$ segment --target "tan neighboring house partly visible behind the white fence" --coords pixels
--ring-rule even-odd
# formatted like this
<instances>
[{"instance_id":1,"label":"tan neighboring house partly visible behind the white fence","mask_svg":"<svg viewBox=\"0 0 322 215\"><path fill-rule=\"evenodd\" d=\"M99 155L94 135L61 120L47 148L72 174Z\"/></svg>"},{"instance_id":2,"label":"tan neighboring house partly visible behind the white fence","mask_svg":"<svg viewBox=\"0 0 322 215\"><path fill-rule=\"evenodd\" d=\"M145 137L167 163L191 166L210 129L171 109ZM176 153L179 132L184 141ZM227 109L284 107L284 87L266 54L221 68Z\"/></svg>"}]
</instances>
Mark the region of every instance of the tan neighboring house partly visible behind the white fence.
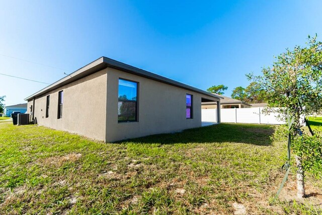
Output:
<instances>
[{"instance_id":1,"label":"tan neighboring house partly visible behind the white fence","mask_svg":"<svg viewBox=\"0 0 322 215\"><path fill-rule=\"evenodd\" d=\"M220 96L223 97L222 99L220 99L220 108L250 108L250 107L252 107L251 104L248 104L246 102L243 102L243 101L240 101L237 99L233 99L230 97L226 97L223 95L220 95ZM214 108L217 108L217 105L214 102L202 102L201 107L202 107L202 109L214 109Z\"/></svg>"}]
</instances>

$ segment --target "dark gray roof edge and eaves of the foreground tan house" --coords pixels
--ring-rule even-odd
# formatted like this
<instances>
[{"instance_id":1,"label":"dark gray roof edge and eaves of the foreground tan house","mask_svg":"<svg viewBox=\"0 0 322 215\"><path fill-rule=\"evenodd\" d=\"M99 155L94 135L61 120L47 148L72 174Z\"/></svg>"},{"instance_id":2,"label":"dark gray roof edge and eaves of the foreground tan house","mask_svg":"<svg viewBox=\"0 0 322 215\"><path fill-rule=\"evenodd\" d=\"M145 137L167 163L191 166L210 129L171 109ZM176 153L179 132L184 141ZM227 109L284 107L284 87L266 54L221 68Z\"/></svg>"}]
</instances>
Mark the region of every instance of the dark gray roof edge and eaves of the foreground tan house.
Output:
<instances>
[{"instance_id":1,"label":"dark gray roof edge and eaves of the foreground tan house","mask_svg":"<svg viewBox=\"0 0 322 215\"><path fill-rule=\"evenodd\" d=\"M126 73L130 73L130 74L133 74L133 75L136 75L136 76L141 76L141 77L148 78L148 79L158 81L158 82L162 82L162 83L165 83L165 84L173 85L173 86L176 86L176 87L179 87L179 88L190 90L190 91L200 93L200 94L203 94L203 95L206 95L206 96L210 96L210 97L213 97L213 98L219 98L219 99L223 98L221 95L215 95L215 94L208 93L208 92L200 90L198 88L191 87L189 85L186 85L186 84L183 84L183 83L180 83L180 82L165 78L163 76L159 76L159 75L150 73L149 71L146 71L146 70L143 70L143 69L140 69L140 68L137 68L137 67L134 67L134 66L119 62L117 60L113 60L113 59L108 58L108 57L100 57L99 59L97 59L97 60L87 64L86 66L84 66L82 68L79 68L78 70L74 71L69 76L66 76L66 77L62 78L62 79L58 80L57 82L49 85L48 87L45 87L44 89L38 91L37 93L34 93L33 95L25 98L25 100L30 100L30 99L33 99L35 97L41 96L41 95L43 95L43 94L45 94L45 93L47 93L49 91L55 90L55 89L57 89L59 87L62 87L64 85L66 85L66 84L74 82L74 81L76 81L78 79L81 79L81 78L84 78L84 77L86 77L88 75L96 73L97 71L102 70L102 69L104 69L106 67L116 68L118 70L125 71Z\"/></svg>"}]
</instances>

